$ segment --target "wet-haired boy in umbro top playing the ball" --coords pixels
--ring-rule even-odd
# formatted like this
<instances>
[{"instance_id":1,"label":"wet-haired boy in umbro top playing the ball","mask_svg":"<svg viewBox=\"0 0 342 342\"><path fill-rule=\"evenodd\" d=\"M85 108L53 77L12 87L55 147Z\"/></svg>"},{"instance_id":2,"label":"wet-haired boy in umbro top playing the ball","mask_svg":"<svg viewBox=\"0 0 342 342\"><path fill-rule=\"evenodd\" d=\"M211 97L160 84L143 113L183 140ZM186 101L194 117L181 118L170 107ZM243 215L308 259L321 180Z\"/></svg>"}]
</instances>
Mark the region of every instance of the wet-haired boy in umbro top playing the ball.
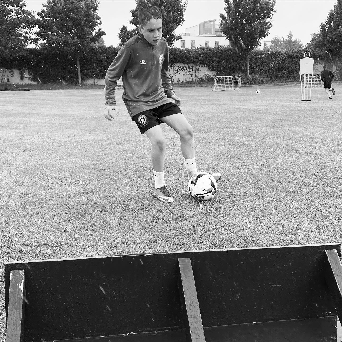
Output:
<instances>
[{"instance_id":1,"label":"wet-haired boy in umbro top playing the ball","mask_svg":"<svg viewBox=\"0 0 342 342\"><path fill-rule=\"evenodd\" d=\"M119 115L115 87L122 76L122 100L131 119L152 145L153 196L170 203L174 199L164 180L165 137L160 123L166 123L179 134L189 179L197 173L197 168L193 128L183 116L179 108L181 99L171 86L169 47L161 36L162 26L162 16L157 7L148 6L139 11L139 33L122 45L107 70L105 118L111 120L114 119L114 113ZM221 178L219 173L213 176L217 181Z\"/></svg>"}]
</instances>

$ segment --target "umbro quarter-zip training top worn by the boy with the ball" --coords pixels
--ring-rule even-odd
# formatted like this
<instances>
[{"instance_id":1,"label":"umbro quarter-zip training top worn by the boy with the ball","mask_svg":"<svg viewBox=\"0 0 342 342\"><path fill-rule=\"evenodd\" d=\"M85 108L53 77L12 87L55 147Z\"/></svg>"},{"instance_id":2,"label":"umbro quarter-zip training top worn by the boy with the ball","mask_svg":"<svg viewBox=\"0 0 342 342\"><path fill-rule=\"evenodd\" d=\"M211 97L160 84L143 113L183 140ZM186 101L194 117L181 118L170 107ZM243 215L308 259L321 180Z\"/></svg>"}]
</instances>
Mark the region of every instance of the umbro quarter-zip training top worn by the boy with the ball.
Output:
<instances>
[{"instance_id":1,"label":"umbro quarter-zip training top worn by the boy with the ball","mask_svg":"<svg viewBox=\"0 0 342 342\"><path fill-rule=\"evenodd\" d=\"M169 47L161 37L150 44L142 34L129 39L119 50L106 73L106 107L116 106L115 87L122 76L122 100L131 118L166 103L174 94L169 75ZM133 119L132 119L133 120Z\"/></svg>"}]
</instances>

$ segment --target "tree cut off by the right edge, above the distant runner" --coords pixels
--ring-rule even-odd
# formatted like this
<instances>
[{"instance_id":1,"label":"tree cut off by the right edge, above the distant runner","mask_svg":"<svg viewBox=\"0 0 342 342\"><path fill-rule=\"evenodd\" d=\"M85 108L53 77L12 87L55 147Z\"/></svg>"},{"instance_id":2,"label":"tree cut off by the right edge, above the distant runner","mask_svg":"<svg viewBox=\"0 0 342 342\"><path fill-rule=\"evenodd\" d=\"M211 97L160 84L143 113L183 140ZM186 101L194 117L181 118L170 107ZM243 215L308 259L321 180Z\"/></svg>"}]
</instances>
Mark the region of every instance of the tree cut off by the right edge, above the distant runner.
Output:
<instances>
[{"instance_id":1,"label":"tree cut off by the right edge, above the distant runner","mask_svg":"<svg viewBox=\"0 0 342 342\"><path fill-rule=\"evenodd\" d=\"M307 48L324 51L336 56L342 51L342 0L338 0L329 11L327 20L320 25L319 32L307 44Z\"/></svg>"}]
</instances>

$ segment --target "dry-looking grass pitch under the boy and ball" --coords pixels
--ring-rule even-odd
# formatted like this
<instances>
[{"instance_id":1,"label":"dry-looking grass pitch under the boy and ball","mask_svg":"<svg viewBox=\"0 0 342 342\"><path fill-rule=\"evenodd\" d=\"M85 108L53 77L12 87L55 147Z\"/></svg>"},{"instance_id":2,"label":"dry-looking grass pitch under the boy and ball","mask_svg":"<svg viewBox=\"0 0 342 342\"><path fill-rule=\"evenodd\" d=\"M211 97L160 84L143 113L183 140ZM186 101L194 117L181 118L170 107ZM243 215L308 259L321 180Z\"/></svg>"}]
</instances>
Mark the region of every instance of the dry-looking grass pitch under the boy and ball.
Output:
<instances>
[{"instance_id":1,"label":"dry-looking grass pitch under the boy and ball","mask_svg":"<svg viewBox=\"0 0 342 342\"><path fill-rule=\"evenodd\" d=\"M176 88L198 170L222 180L212 200L191 198L179 136L163 124L173 204L152 197L150 143L121 91L111 122L102 89L1 92L0 340L4 261L342 242L334 86L311 102L298 84Z\"/></svg>"}]
</instances>

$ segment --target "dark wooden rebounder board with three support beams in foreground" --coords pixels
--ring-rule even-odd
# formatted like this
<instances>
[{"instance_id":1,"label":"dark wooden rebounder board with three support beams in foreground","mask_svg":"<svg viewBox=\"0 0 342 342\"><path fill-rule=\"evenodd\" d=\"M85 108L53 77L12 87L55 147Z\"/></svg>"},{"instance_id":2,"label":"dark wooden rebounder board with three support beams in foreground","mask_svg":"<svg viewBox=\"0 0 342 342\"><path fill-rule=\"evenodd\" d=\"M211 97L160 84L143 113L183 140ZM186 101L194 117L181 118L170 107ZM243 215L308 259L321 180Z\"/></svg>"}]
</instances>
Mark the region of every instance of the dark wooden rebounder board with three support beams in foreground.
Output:
<instances>
[{"instance_id":1,"label":"dark wooden rebounder board with three support beams in foreground","mask_svg":"<svg viewBox=\"0 0 342 342\"><path fill-rule=\"evenodd\" d=\"M275 341L272 322L341 320L340 256L325 244L4 263L6 342L242 342L258 326Z\"/></svg>"}]
</instances>

